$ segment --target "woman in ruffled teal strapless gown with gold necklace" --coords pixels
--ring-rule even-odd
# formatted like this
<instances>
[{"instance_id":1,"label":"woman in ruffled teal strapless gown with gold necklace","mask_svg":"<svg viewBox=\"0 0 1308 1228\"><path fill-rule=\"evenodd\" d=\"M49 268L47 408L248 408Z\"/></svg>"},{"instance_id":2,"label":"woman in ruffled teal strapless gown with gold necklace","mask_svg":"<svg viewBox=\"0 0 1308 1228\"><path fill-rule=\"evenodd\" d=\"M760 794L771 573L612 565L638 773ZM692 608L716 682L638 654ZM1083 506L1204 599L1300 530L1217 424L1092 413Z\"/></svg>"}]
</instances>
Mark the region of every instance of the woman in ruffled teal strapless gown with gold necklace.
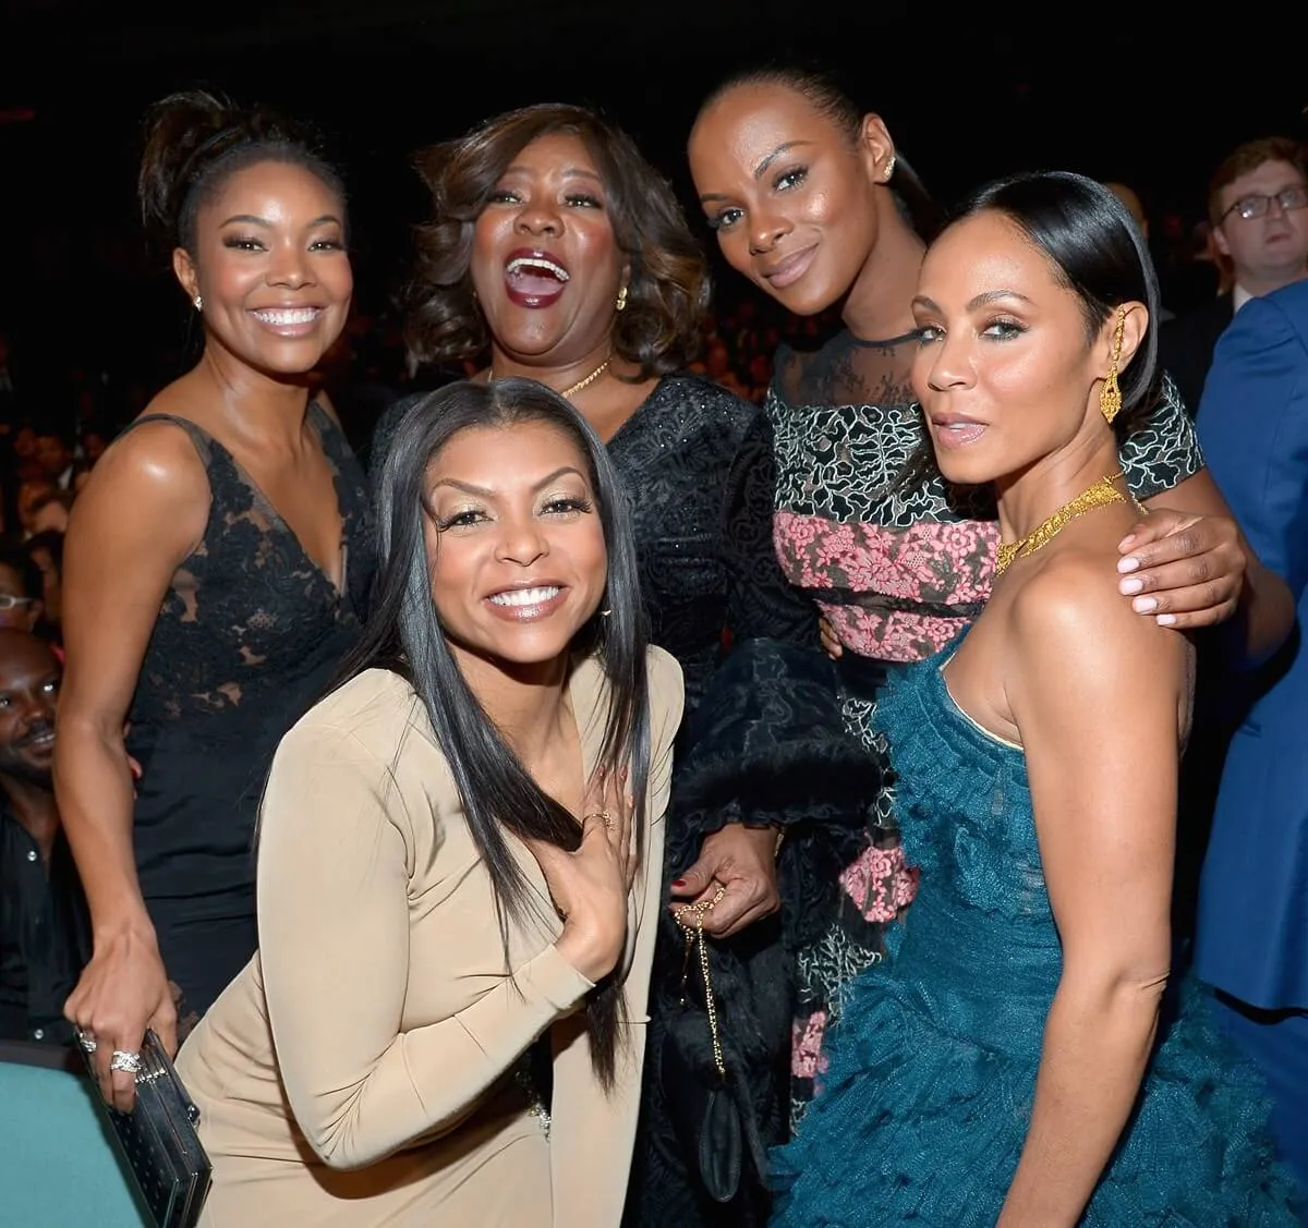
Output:
<instances>
[{"instance_id":1,"label":"woman in ruffled teal strapless gown with gold necklace","mask_svg":"<svg viewBox=\"0 0 1308 1228\"><path fill-rule=\"evenodd\" d=\"M918 290L937 463L993 485L1005 544L972 629L878 708L921 887L776 1153L774 1221L1288 1228L1257 1078L1168 983L1193 654L1108 566L1142 513L1114 430L1156 388L1143 242L1091 180L1019 177Z\"/></svg>"}]
</instances>

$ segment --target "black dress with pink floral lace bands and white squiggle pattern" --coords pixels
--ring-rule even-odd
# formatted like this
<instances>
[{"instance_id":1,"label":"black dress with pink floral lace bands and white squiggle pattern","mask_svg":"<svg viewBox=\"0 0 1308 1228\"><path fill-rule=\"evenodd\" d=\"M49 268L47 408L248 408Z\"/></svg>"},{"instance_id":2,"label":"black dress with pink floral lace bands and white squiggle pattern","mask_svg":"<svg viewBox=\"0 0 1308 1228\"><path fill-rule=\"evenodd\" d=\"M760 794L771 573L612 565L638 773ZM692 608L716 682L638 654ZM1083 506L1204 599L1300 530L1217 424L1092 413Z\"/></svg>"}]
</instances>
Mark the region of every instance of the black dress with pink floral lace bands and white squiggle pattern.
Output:
<instances>
[{"instance_id":1,"label":"black dress with pink floral lace bands and white squiggle pattern","mask_svg":"<svg viewBox=\"0 0 1308 1228\"><path fill-rule=\"evenodd\" d=\"M930 450L908 373L916 335L862 341L841 332L815 353L782 348L765 411L777 462L774 543L782 570L827 615L846 660L891 670L931 657L990 594L998 527L988 496L951 486ZM1169 379L1121 449L1139 500L1169 490L1203 458ZM882 957L883 930L912 901L884 742L872 732L879 671L845 670L841 708L871 770L861 851L838 874L836 913L797 952L791 1121L812 1095L821 1037L842 987ZM879 773L879 776L878 776Z\"/></svg>"}]
</instances>

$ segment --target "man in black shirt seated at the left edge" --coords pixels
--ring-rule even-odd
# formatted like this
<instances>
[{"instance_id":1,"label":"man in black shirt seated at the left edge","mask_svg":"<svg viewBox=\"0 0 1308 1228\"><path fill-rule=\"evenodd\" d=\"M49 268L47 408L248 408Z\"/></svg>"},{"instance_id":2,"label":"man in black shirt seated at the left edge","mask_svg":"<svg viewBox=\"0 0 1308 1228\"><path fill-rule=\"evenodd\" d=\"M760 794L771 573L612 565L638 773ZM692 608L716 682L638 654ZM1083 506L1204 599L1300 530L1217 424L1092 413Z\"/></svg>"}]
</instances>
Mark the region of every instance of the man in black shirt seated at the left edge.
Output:
<instances>
[{"instance_id":1,"label":"man in black shirt seated at the left edge","mask_svg":"<svg viewBox=\"0 0 1308 1228\"><path fill-rule=\"evenodd\" d=\"M60 666L0 628L0 1038L63 1044L64 1000L85 961L86 912L50 765Z\"/></svg>"}]
</instances>

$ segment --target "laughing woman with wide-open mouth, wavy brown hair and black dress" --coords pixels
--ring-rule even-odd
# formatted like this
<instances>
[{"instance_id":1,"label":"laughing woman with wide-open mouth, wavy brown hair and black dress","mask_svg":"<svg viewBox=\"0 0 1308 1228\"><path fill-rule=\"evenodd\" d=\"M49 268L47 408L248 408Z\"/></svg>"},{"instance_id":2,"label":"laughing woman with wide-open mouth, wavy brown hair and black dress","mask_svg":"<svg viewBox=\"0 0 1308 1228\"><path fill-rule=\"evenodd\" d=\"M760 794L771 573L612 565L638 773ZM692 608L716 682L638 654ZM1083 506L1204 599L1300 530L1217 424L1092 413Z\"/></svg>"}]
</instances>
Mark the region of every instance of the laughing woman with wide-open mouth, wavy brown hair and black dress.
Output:
<instances>
[{"instance_id":1,"label":"laughing woman with wide-open mouth, wavy brown hair and black dress","mask_svg":"<svg viewBox=\"0 0 1308 1228\"><path fill-rule=\"evenodd\" d=\"M697 708L727 642L735 653L759 638L785 641L823 664L816 612L785 582L773 553L766 421L685 370L701 340L708 265L671 188L632 139L582 107L530 106L428 149L419 169L432 217L417 235L413 358L472 361L485 381L527 375L577 407L607 445L630 503L650 641L676 658L685 679L678 760L695 753L702 770L696 787L685 787L680 770L672 787L663 864L670 885L629 1195L630 1215L659 1215L700 1198L687 1174L692 1144L676 1136L667 1095L701 1097L698 1075L678 1072L704 1054L712 1067L702 1012L680 1010L684 935L674 909L713 904L705 932L723 947L774 913L777 825L790 786L807 785L778 757L751 777L753 793L734 813L714 811L706 828L705 798L735 756L731 739L746 731L701 727ZM385 455L402 412L379 428L374 456ZM413 412L429 411L420 404ZM692 863L698 870L684 875ZM769 930L764 923L760 932ZM736 966L730 951L715 964L725 999ZM785 1028L786 973L756 973L776 986L774 1014ZM734 1070L742 1062L730 1046L756 1031L740 1015L723 1025ZM717 1076L710 1070L708 1078ZM757 1131L749 1143L757 1152Z\"/></svg>"}]
</instances>

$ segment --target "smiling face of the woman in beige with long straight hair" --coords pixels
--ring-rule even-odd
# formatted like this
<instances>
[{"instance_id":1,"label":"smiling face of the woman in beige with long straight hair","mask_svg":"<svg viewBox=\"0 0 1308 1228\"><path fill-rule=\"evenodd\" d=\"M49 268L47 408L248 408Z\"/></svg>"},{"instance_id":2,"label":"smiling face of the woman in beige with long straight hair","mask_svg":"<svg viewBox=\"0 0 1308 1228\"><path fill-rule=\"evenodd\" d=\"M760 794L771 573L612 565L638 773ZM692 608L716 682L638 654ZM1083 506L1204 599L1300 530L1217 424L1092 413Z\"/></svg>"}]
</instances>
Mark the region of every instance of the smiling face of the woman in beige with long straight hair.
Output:
<instances>
[{"instance_id":1,"label":"smiling face of the woman in beige with long straight hair","mask_svg":"<svg viewBox=\"0 0 1308 1228\"><path fill-rule=\"evenodd\" d=\"M560 660L604 595L608 556L586 456L559 428L455 435L428 468L428 566L455 659Z\"/></svg>"}]
</instances>

